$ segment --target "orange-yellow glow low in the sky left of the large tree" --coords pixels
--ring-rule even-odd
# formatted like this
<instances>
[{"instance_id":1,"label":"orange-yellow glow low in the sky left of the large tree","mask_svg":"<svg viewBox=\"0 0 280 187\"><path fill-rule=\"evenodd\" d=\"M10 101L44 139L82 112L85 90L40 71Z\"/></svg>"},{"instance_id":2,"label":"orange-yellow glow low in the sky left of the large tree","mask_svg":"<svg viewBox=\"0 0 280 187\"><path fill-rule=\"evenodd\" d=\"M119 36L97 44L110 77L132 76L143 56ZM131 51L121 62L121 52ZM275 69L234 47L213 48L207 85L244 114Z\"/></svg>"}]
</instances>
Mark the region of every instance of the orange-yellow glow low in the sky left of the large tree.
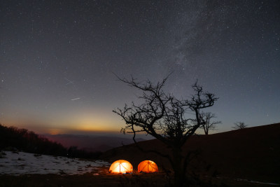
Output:
<instances>
[{"instance_id":1,"label":"orange-yellow glow low in the sky left of the large tree","mask_svg":"<svg viewBox=\"0 0 280 187\"><path fill-rule=\"evenodd\" d=\"M93 114L92 114L93 113ZM8 123L7 123L8 122ZM117 116L106 116L101 111L72 113L72 115L57 116L56 118L9 118L6 126L14 126L34 131L36 134L92 134L92 133L120 133L123 123Z\"/></svg>"}]
</instances>

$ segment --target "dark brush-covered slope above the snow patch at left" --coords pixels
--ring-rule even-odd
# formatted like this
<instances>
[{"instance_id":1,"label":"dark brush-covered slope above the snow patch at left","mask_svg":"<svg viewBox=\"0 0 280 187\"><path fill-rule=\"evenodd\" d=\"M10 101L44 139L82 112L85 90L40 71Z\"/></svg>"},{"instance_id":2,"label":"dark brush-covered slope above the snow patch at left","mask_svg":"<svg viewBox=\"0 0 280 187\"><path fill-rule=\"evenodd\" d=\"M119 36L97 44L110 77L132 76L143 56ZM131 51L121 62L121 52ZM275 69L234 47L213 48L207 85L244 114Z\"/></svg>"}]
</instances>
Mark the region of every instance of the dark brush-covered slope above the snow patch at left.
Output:
<instances>
[{"instance_id":1,"label":"dark brush-covered slope above the snow patch at left","mask_svg":"<svg viewBox=\"0 0 280 187\"><path fill-rule=\"evenodd\" d=\"M71 158L97 159L101 152L90 152L71 146L66 148L32 131L0 124L0 150L24 151L27 153L67 156Z\"/></svg>"}]
</instances>

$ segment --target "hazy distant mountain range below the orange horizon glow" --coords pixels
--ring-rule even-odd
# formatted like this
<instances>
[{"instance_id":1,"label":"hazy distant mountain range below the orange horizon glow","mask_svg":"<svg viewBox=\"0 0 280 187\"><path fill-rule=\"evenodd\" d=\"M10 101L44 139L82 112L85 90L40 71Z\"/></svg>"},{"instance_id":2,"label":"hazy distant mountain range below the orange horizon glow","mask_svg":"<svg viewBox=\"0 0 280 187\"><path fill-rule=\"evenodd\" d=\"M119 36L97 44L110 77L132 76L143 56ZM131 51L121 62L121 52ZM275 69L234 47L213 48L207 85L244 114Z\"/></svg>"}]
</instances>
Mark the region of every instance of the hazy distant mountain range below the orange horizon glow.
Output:
<instances>
[{"instance_id":1,"label":"hazy distant mountain range below the orange horizon glow","mask_svg":"<svg viewBox=\"0 0 280 187\"><path fill-rule=\"evenodd\" d=\"M74 135L74 134L43 134L43 137L50 141L56 141L59 144L69 148L70 146L77 146L79 149L86 151L108 151L111 148L133 144L134 141L130 138L112 137L112 136L90 136L90 135ZM137 139L137 141L144 141L146 139Z\"/></svg>"}]
</instances>

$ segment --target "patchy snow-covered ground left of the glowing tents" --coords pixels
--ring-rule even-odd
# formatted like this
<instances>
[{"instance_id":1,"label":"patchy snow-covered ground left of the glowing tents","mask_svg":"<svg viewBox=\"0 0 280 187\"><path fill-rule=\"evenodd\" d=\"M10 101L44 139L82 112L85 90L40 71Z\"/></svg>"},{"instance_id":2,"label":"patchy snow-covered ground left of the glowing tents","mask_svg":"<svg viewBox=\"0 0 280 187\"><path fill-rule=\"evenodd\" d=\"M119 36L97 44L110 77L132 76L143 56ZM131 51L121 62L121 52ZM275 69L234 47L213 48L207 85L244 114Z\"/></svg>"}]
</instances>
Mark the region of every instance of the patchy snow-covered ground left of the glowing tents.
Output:
<instances>
[{"instance_id":1,"label":"patchy snow-covered ground left of the glowing tents","mask_svg":"<svg viewBox=\"0 0 280 187\"><path fill-rule=\"evenodd\" d=\"M98 174L100 167L110 167L102 160L87 161L60 156L24 152L0 152L0 174Z\"/></svg>"}]
</instances>

